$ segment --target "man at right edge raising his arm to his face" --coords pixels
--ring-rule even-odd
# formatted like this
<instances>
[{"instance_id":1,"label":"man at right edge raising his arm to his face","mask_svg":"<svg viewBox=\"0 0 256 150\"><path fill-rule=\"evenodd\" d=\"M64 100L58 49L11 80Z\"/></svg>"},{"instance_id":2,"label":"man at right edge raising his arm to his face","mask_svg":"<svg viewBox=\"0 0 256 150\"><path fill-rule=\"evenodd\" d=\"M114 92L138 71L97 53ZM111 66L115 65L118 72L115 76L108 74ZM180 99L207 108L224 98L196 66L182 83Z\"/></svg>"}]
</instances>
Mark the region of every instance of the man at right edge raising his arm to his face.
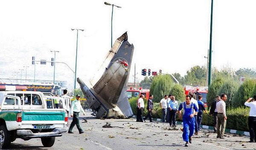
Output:
<instances>
[{"instance_id":1,"label":"man at right edge raising his arm to his face","mask_svg":"<svg viewBox=\"0 0 256 150\"><path fill-rule=\"evenodd\" d=\"M245 106L250 107L250 113L248 118L248 126L250 133L250 141L256 142L256 95L253 98L249 98L245 103Z\"/></svg>"}]
</instances>

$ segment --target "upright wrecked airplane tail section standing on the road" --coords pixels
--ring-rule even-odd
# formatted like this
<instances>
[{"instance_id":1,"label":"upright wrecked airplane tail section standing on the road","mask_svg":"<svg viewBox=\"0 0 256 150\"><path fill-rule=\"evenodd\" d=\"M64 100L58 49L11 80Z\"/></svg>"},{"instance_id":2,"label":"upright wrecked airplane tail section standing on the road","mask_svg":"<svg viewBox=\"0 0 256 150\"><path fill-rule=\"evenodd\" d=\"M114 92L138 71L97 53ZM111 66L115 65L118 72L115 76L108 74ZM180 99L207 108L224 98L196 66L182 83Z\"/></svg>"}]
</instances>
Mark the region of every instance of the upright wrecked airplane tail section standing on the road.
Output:
<instances>
[{"instance_id":1,"label":"upright wrecked airplane tail section standing on the road","mask_svg":"<svg viewBox=\"0 0 256 150\"><path fill-rule=\"evenodd\" d=\"M77 78L90 108L97 118L129 118L133 116L126 96L134 46L127 32L119 37L108 52L102 66L90 83ZM102 74L101 74L102 72Z\"/></svg>"}]
</instances>

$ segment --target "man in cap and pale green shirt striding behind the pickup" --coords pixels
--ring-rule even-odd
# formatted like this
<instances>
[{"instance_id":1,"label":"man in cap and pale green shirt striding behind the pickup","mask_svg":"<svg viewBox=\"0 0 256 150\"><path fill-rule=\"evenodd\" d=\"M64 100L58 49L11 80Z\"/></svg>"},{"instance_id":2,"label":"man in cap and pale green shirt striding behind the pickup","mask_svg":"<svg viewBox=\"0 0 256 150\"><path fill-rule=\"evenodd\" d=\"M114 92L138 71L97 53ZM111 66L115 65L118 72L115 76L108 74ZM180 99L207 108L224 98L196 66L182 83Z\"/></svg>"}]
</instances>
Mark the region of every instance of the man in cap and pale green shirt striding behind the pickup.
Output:
<instances>
[{"instance_id":1,"label":"man in cap and pale green shirt striding behind the pickup","mask_svg":"<svg viewBox=\"0 0 256 150\"><path fill-rule=\"evenodd\" d=\"M80 113L80 111L82 111L85 115L85 112L81 106L79 99L80 99L80 95L76 95L76 100L72 101L71 117L73 117L73 121L70 124L68 133L73 133L72 130L73 130L73 127L75 126L75 124L76 124L77 129L79 130L79 134L84 133L84 131L82 130L80 123L79 123L79 113Z\"/></svg>"}]
</instances>

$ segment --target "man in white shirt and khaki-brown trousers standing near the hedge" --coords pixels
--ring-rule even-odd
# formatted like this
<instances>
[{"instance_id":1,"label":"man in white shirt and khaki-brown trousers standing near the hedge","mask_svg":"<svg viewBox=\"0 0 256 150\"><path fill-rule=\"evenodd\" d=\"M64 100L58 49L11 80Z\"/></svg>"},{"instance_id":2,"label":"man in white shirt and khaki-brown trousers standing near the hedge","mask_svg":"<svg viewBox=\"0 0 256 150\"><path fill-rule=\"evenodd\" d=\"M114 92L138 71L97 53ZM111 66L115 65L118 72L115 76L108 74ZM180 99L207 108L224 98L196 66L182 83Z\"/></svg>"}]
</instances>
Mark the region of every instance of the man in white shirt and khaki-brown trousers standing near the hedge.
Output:
<instances>
[{"instance_id":1,"label":"man in white shirt and khaki-brown trousers standing near the hedge","mask_svg":"<svg viewBox=\"0 0 256 150\"><path fill-rule=\"evenodd\" d=\"M227 115L226 115L226 103L227 95L222 94L221 100L216 104L216 109L218 112L217 121L217 138L224 138L224 131L226 128Z\"/></svg>"}]
</instances>

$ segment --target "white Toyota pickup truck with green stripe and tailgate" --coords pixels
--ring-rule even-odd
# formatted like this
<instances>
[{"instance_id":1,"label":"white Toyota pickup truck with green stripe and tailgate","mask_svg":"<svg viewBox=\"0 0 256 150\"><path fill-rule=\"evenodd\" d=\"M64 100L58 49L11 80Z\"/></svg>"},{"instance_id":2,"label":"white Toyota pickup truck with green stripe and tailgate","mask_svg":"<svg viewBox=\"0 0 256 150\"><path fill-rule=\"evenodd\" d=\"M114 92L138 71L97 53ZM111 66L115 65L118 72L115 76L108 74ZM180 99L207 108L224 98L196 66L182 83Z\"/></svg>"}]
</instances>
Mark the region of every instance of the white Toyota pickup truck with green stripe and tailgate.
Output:
<instances>
[{"instance_id":1,"label":"white Toyota pickup truck with green stripe and tailgate","mask_svg":"<svg viewBox=\"0 0 256 150\"><path fill-rule=\"evenodd\" d=\"M56 136L67 132L67 112L47 109L42 92L0 92L0 148L8 148L16 138L41 138L44 147L51 147Z\"/></svg>"}]
</instances>

